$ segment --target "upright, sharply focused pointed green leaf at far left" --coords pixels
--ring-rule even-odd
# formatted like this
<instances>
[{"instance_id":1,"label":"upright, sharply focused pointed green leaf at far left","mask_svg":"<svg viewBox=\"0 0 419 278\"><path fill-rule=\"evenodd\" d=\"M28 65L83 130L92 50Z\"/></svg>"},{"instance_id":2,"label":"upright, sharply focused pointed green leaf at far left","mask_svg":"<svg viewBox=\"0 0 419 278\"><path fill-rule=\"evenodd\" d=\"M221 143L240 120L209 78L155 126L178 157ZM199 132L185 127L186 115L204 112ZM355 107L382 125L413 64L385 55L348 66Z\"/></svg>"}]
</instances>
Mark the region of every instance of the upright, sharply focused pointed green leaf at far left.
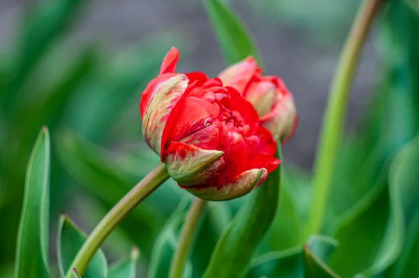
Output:
<instances>
[{"instance_id":1,"label":"upright, sharply focused pointed green leaf at far left","mask_svg":"<svg viewBox=\"0 0 419 278\"><path fill-rule=\"evenodd\" d=\"M41 129L29 159L17 236L16 277L50 277L48 267L50 136Z\"/></svg>"}]
</instances>

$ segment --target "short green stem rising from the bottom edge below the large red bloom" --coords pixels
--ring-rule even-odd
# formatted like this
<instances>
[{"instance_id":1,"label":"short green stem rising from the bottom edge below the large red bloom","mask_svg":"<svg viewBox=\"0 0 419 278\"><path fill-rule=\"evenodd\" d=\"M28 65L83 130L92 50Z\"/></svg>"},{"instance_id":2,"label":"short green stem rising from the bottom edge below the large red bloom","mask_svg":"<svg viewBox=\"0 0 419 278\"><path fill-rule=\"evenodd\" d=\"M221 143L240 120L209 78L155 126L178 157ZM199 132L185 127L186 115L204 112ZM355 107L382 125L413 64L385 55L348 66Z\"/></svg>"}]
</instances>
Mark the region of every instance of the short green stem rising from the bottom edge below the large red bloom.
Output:
<instances>
[{"instance_id":1,"label":"short green stem rising from the bottom edge below the large red bloom","mask_svg":"<svg viewBox=\"0 0 419 278\"><path fill-rule=\"evenodd\" d=\"M182 231L180 232L179 243L175 250L175 254L172 257L172 263L170 265L170 278L182 278L182 272L186 258L188 257L189 248L193 240L193 234L199 223L200 215L203 213L205 204L207 202L200 198L195 198L189 212L186 215Z\"/></svg>"}]
</instances>

